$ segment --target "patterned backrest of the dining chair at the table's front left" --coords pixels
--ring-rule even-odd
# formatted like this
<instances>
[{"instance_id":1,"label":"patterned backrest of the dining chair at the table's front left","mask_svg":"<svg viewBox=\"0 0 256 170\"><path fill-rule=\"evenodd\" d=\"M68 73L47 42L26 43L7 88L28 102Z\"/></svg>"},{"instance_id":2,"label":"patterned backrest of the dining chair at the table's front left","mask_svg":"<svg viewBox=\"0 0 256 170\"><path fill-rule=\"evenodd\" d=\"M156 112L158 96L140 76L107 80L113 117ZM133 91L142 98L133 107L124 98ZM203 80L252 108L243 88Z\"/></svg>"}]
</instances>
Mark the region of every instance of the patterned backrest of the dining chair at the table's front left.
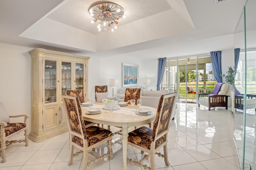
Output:
<instances>
[{"instance_id":1,"label":"patterned backrest of the dining chair at the table's front left","mask_svg":"<svg viewBox=\"0 0 256 170\"><path fill-rule=\"evenodd\" d=\"M81 140L82 144L86 141L86 128L83 121L83 115L81 110L81 103L77 96L62 95L62 101L65 108L66 119L68 123L68 130L70 134L70 141L73 137L78 137L77 140ZM85 145L87 146L87 145Z\"/></svg>"}]
</instances>

